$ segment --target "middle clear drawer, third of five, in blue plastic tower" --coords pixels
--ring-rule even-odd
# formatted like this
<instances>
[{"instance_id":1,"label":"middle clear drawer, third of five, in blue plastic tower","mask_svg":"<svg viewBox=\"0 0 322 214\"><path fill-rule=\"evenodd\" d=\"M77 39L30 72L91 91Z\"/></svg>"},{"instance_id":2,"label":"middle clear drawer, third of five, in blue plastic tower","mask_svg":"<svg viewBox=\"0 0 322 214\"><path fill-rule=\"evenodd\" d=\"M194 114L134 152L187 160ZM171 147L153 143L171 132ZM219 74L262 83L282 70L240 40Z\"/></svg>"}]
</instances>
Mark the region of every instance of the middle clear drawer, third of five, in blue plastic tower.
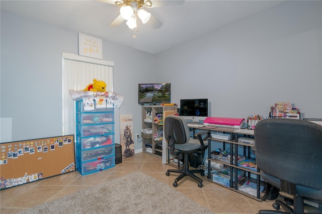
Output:
<instances>
[{"instance_id":1,"label":"middle clear drawer, third of five, in blue plastic tower","mask_svg":"<svg viewBox=\"0 0 322 214\"><path fill-rule=\"evenodd\" d=\"M77 136L77 147L81 149L98 148L112 144L114 144L114 134L88 138Z\"/></svg>"}]
</instances>

